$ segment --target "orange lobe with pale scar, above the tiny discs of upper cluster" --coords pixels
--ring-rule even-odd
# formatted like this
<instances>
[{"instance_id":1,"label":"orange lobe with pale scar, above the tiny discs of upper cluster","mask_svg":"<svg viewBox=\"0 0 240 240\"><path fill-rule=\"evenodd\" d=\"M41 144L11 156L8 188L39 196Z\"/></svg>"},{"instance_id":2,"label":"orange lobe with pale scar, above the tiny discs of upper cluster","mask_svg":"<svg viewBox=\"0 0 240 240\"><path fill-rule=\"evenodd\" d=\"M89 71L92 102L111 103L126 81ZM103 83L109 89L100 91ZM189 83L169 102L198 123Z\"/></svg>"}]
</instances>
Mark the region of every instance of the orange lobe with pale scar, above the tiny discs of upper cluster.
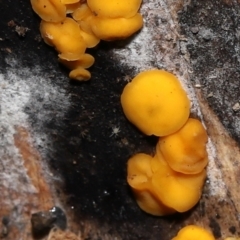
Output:
<instances>
[{"instance_id":1,"label":"orange lobe with pale scar, above the tiny discs of upper cluster","mask_svg":"<svg viewBox=\"0 0 240 240\"><path fill-rule=\"evenodd\" d=\"M77 60L86 50L79 26L72 18L60 23L42 21L40 31L44 41L54 46L61 58Z\"/></svg>"}]
</instances>

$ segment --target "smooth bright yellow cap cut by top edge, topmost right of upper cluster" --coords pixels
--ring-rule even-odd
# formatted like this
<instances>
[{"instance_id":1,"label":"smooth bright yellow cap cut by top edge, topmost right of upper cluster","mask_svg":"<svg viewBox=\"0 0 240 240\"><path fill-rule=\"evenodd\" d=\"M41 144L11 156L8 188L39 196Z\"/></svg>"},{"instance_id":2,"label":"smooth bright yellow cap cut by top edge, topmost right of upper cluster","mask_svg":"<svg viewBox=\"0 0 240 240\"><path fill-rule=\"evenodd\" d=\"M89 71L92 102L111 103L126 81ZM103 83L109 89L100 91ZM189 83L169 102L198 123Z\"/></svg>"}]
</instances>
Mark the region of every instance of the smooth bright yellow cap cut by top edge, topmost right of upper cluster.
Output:
<instances>
[{"instance_id":1,"label":"smooth bright yellow cap cut by top edge, topmost right of upper cluster","mask_svg":"<svg viewBox=\"0 0 240 240\"><path fill-rule=\"evenodd\" d=\"M96 16L105 18L130 18L140 8L142 0L87 0Z\"/></svg>"}]
</instances>

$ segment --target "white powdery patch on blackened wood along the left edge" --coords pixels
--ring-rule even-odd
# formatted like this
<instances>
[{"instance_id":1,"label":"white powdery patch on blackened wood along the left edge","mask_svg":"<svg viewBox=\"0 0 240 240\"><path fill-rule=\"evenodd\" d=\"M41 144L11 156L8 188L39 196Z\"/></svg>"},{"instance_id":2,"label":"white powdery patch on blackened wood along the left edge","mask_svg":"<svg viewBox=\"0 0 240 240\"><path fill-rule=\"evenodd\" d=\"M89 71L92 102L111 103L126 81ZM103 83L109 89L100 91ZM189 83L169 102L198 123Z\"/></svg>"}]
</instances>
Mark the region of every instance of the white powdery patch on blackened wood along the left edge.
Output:
<instances>
[{"instance_id":1,"label":"white powdery patch on blackened wood along the left edge","mask_svg":"<svg viewBox=\"0 0 240 240\"><path fill-rule=\"evenodd\" d=\"M18 205L18 201L9 199L10 192L21 192L21 206L24 206L24 195L34 194L37 191L27 175L22 156L14 144L15 127L21 126L31 131L29 116L25 113L25 108L29 106L29 103L35 104L36 107L40 104L37 107L40 109L44 104L56 102L63 110L64 107L68 107L69 101L63 90L60 91L59 87L45 81L45 74L41 72L40 67L20 68L15 59L6 61L11 67L6 69L6 73L0 73L0 189L4 190L1 195L2 201L14 207L12 205ZM37 94L42 96L39 103L34 98ZM41 119L43 114L39 112L36 116ZM58 114L61 115L61 112ZM44 144L47 144L47 136L43 132L34 132L33 139L35 144L43 145L42 139L45 140ZM47 170L46 174L49 174L44 161L42 164L44 171ZM20 208L21 206L18 205Z\"/></svg>"}]
</instances>

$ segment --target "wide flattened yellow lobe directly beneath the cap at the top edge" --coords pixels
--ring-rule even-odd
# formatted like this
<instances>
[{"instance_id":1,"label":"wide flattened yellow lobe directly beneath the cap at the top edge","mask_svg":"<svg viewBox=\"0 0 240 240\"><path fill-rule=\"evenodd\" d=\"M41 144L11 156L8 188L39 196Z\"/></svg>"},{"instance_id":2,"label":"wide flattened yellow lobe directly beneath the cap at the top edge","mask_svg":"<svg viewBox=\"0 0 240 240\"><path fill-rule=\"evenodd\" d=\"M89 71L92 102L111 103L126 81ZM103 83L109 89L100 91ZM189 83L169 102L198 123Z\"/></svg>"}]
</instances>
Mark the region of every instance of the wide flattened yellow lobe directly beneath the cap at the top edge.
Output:
<instances>
[{"instance_id":1,"label":"wide flattened yellow lobe directly beneath the cap at the top edge","mask_svg":"<svg viewBox=\"0 0 240 240\"><path fill-rule=\"evenodd\" d=\"M143 26L142 16L137 13L131 18L92 17L92 32L100 39L113 41L125 39L137 32Z\"/></svg>"}]
</instances>

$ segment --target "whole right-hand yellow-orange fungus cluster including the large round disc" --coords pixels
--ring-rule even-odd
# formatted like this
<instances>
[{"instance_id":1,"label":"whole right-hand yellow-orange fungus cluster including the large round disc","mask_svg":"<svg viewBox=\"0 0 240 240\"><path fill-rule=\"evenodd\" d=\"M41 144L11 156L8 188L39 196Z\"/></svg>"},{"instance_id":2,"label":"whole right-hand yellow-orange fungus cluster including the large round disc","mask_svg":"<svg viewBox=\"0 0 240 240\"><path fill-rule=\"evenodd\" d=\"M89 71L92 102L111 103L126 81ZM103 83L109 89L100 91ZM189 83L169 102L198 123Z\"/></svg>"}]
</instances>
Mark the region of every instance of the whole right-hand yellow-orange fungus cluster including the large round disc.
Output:
<instances>
[{"instance_id":1,"label":"whole right-hand yellow-orange fungus cluster including the large round disc","mask_svg":"<svg viewBox=\"0 0 240 240\"><path fill-rule=\"evenodd\" d=\"M125 86L121 103L130 122L160 136L154 157L139 153L128 160L137 204L157 216L190 210L206 179L208 137L201 122L189 118L190 101L178 79L163 70L142 72Z\"/></svg>"}]
</instances>

